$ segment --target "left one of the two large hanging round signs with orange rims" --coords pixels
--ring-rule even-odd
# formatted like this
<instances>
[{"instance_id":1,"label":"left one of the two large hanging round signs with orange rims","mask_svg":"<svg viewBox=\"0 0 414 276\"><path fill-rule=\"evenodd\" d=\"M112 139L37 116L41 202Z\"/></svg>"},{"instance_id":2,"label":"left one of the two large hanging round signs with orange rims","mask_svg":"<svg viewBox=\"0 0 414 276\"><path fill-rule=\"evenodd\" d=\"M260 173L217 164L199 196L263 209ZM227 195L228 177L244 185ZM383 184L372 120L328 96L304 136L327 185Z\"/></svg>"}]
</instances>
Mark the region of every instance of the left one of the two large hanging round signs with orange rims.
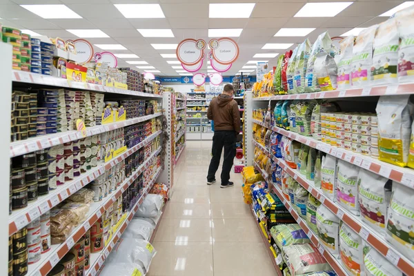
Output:
<instances>
[{"instance_id":1,"label":"left one of the two large hanging round signs with orange rims","mask_svg":"<svg viewBox=\"0 0 414 276\"><path fill-rule=\"evenodd\" d=\"M206 41L203 39L184 39L177 46L177 59L186 66L193 66L203 59Z\"/></svg>"}]
</instances>

